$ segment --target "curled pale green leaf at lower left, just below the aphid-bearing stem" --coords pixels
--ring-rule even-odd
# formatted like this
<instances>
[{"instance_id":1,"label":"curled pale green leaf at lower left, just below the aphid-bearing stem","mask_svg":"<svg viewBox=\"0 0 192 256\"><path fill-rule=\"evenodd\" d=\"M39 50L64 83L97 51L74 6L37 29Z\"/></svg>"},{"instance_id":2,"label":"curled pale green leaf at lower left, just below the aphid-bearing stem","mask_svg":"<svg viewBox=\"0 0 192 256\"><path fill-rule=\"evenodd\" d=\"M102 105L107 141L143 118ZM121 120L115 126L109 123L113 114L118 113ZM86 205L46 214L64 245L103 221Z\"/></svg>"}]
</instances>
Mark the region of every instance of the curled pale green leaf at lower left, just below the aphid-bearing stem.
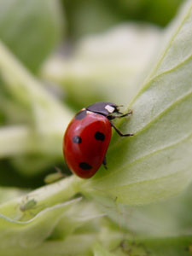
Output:
<instances>
[{"instance_id":1,"label":"curled pale green leaf at lower left, just below the aphid-bearing stem","mask_svg":"<svg viewBox=\"0 0 192 256\"><path fill-rule=\"evenodd\" d=\"M12 240L15 245L18 244L21 247L37 247L51 234L67 207L74 202L69 201L47 207L28 221L16 221L1 215L1 241Z\"/></svg>"}]
</instances>

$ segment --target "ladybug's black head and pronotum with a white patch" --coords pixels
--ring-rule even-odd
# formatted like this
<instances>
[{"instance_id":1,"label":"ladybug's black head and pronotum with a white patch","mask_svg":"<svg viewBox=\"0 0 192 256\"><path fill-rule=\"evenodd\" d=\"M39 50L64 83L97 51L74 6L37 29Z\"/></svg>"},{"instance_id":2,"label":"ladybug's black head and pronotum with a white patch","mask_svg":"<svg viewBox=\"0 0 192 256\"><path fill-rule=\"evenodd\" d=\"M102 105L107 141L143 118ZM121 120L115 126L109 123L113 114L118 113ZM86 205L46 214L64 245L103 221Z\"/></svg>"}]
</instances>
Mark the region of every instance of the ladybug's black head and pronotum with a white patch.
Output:
<instances>
[{"instance_id":1,"label":"ladybug's black head and pronotum with a white patch","mask_svg":"<svg viewBox=\"0 0 192 256\"><path fill-rule=\"evenodd\" d=\"M118 106L111 102L96 102L95 104L87 107L86 110L94 113L101 113L105 116L108 116L112 113L120 113Z\"/></svg>"}]
</instances>

